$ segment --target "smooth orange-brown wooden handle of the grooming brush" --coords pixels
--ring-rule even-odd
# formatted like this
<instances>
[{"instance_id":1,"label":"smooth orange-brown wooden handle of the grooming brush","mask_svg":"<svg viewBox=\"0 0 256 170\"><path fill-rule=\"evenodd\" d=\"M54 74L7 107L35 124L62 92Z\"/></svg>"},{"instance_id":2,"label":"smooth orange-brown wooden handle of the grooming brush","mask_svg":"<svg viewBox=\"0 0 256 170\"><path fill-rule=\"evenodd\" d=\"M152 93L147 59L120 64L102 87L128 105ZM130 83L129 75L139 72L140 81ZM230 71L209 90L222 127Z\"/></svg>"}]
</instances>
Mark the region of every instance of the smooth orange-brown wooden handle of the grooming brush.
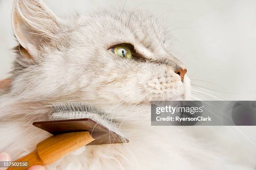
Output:
<instances>
[{"instance_id":1,"label":"smooth orange-brown wooden handle of the grooming brush","mask_svg":"<svg viewBox=\"0 0 256 170\"><path fill-rule=\"evenodd\" d=\"M94 141L89 132L57 134L36 145L36 150L15 162L28 162L28 167L9 167L8 170L27 170L33 165L49 165L74 150Z\"/></svg>"}]
</instances>

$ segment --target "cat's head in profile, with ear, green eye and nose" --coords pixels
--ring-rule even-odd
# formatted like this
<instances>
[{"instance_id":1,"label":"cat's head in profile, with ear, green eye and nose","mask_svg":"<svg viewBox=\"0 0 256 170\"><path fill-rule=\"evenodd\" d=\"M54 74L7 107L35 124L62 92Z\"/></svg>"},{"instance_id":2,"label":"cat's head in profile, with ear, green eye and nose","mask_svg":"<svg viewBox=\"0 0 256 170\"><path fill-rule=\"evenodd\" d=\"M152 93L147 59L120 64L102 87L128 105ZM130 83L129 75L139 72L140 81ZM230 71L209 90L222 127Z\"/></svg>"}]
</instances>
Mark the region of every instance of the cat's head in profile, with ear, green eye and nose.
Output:
<instances>
[{"instance_id":1,"label":"cat's head in profile, with ear, green eye and nose","mask_svg":"<svg viewBox=\"0 0 256 170\"><path fill-rule=\"evenodd\" d=\"M186 67L150 15L109 10L60 19L41 1L16 0L13 27L26 49L15 61L16 94L101 105L190 99Z\"/></svg>"}]
</instances>

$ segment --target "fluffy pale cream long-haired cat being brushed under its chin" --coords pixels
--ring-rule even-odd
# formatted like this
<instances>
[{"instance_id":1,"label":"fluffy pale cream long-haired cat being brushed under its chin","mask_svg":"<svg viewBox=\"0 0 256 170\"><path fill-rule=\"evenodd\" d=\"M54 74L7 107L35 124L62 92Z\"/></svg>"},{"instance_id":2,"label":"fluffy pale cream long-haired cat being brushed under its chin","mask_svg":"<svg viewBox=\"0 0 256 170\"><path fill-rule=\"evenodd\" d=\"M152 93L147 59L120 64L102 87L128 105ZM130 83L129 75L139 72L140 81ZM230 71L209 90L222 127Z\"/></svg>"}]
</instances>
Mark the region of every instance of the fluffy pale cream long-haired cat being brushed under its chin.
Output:
<instances>
[{"instance_id":1,"label":"fluffy pale cream long-haired cat being brushed under its chin","mask_svg":"<svg viewBox=\"0 0 256 170\"><path fill-rule=\"evenodd\" d=\"M0 151L26 155L50 136L32 122L48 120L56 103L86 101L119 122L130 142L82 147L48 169L237 167L210 127L151 127L150 101L191 99L187 69L153 16L112 8L60 18L41 0L14 0L12 23L18 46L11 86L0 96ZM250 150L236 153L251 163Z\"/></svg>"}]
</instances>

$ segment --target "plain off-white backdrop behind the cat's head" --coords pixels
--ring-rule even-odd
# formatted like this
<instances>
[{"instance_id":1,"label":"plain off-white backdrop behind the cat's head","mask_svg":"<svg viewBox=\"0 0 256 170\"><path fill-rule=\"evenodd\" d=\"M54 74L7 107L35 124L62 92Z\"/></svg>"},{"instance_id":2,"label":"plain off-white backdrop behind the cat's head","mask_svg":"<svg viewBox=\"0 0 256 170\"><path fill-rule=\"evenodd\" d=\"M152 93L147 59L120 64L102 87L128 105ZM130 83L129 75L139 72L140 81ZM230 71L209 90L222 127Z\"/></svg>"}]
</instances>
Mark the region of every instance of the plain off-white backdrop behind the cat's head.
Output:
<instances>
[{"instance_id":1,"label":"plain off-white backdrop behind the cat's head","mask_svg":"<svg viewBox=\"0 0 256 170\"><path fill-rule=\"evenodd\" d=\"M63 16L112 6L122 10L125 0L44 2ZM8 76L13 60L10 49L17 44L11 28L11 8L12 0L0 0L0 79ZM256 100L256 1L127 0L125 10L134 9L147 10L165 20L172 30L173 54L186 64L192 84L210 89L195 89L197 96Z\"/></svg>"}]
</instances>

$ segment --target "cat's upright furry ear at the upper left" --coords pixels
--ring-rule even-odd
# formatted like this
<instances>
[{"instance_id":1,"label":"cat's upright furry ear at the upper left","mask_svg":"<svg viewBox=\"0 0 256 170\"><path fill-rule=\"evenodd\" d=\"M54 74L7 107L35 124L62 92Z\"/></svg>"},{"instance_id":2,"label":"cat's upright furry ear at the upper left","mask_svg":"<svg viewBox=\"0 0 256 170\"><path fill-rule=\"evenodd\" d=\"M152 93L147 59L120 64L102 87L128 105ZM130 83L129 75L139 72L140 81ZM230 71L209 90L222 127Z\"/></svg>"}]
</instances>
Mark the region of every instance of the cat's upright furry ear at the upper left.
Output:
<instances>
[{"instance_id":1,"label":"cat's upright furry ear at the upper left","mask_svg":"<svg viewBox=\"0 0 256 170\"><path fill-rule=\"evenodd\" d=\"M32 58L44 44L56 38L60 28L59 18L42 0L14 0L12 23L20 49L25 57Z\"/></svg>"}]
</instances>

